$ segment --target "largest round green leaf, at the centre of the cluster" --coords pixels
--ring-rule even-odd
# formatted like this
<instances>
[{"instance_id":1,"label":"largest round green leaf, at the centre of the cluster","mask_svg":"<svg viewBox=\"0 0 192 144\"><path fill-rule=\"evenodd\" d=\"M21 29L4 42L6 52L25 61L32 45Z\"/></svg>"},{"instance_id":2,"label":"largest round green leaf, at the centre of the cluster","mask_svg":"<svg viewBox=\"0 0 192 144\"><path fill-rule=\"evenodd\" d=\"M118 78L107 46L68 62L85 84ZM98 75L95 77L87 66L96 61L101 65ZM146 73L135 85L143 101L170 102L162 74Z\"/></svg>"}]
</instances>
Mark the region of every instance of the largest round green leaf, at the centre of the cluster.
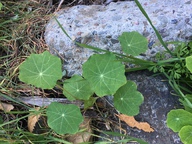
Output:
<instances>
[{"instance_id":1,"label":"largest round green leaf, at the centre of the cluster","mask_svg":"<svg viewBox=\"0 0 192 144\"><path fill-rule=\"evenodd\" d=\"M94 92L102 97L113 95L126 83L125 66L112 53L92 55L83 64L83 76Z\"/></svg>"}]
</instances>

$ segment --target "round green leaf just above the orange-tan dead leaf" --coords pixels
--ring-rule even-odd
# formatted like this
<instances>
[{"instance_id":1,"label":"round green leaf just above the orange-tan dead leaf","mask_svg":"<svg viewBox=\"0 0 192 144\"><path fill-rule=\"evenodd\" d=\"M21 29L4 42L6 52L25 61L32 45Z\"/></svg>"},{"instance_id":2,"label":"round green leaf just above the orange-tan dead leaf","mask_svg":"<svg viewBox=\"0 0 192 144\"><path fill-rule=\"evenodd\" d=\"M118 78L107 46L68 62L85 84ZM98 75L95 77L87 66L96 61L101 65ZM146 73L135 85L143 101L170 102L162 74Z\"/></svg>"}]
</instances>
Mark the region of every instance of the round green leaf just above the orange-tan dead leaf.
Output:
<instances>
[{"instance_id":1,"label":"round green leaf just above the orange-tan dead leaf","mask_svg":"<svg viewBox=\"0 0 192 144\"><path fill-rule=\"evenodd\" d=\"M142 104L143 95L137 91L133 81L127 81L114 95L114 106L121 113L134 116L139 113L139 106Z\"/></svg>"}]
</instances>

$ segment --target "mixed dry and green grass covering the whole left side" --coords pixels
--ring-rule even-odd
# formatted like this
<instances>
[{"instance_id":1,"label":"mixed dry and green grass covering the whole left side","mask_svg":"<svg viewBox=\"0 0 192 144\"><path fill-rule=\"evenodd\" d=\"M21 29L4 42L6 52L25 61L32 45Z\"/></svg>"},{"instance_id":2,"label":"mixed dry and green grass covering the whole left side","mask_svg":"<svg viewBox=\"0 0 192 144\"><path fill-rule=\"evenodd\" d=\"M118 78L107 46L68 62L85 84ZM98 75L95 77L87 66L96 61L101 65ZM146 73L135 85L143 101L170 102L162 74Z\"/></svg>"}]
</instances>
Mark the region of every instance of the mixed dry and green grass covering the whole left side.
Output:
<instances>
[{"instance_id":1,"label":"mixed dry and green grass covering the whole left side","mask_svg":"<svg viewBox=\"0 0 192 144\"><path fill-rule=\"evenodd\" d=\"M48 50L44 30L50 13L54 11L48 2L0 2L0 103L3 101L14 105L11 112L0 110L0 143L49 143L49 136L55 135L46 127L47 131L40 134L28 132L27 117L32 107L15 99L22 95L46 95L41 89L21 83L18 80L18 67L31 53ZM46 125L44 121L42 123Z\"/></svg>"}]
</instances>

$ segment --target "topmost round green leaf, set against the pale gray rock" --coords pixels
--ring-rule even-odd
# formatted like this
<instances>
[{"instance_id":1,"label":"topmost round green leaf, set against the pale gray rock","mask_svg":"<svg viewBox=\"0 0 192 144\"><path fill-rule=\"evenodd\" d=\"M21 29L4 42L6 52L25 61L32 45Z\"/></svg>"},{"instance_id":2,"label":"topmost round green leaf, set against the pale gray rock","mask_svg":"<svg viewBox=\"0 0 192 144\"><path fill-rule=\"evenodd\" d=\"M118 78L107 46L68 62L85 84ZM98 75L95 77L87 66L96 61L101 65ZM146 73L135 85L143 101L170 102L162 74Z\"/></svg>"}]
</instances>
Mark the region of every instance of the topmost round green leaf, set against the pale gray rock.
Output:
<instances>
[{"instance_id":1,"label":"topmost round green leaf, set against the pale gray rock","mask_svg":"<svg viewBox=\"0 0 192 144\"><path fill-rule=\"evenodd\" d=\"M126 54L138 56L148 49L147 39L136 31L124 32L119 36L118 40L120 41L123 52Z\"/></svg>"}]
</instances>

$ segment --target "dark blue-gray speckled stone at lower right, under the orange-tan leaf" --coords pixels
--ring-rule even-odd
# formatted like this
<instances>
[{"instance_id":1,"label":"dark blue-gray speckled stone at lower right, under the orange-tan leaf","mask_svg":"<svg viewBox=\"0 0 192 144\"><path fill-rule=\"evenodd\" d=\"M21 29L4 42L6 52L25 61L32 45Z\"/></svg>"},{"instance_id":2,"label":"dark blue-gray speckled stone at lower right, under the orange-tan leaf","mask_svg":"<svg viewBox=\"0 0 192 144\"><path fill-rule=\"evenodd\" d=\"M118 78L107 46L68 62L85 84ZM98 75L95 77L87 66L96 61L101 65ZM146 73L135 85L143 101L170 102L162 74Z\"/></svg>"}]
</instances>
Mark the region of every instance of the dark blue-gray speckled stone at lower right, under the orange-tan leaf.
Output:
<instances>
[{"instance_id":1,"label":"dark blue-gray speckled stone at lower right, under the orange-tan leaf","mask_svg":"<svg viewBox=\"0 0 192 144\"><path fill-rule=\"evenodd\" d=\"M141 138L149 144L182 144L178 134L166 126L167 113L178 108L178 98L171 95L173 90L161 76L152 76L148 71L128 73L127 79L133 80L144 96L140 113L135 117L141 122L148 122L154 132L147 133L136 128L126 127L127 134Z\"/></svg>"}]
</instances>

